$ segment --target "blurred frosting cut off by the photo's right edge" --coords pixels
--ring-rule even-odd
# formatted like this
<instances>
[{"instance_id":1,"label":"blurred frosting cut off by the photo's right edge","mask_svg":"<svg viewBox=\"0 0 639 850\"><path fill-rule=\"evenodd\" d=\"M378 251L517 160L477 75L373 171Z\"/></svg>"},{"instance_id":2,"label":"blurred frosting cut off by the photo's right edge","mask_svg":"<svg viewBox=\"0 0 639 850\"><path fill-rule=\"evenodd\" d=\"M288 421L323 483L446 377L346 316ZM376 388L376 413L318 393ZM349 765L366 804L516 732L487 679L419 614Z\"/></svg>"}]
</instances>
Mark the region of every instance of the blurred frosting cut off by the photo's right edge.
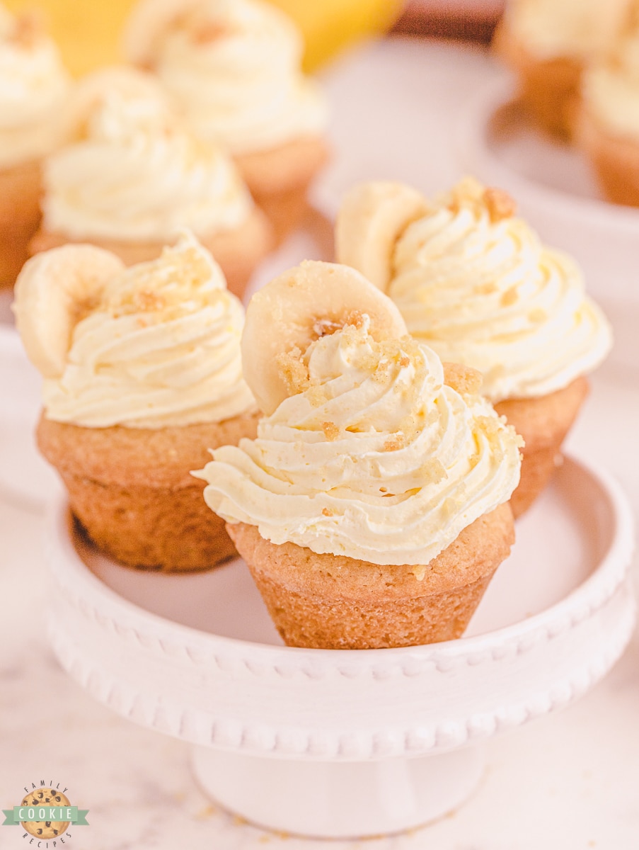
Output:
<instances>
[{"instance_id":1,"label":"blurred frosting cut off by the photo's right edge","mask_svg":"<svg viewBox=\"0 0 639 850\"><path fill-rule=\"evenodd\" d=\"M614 61L585 71L586 108L610 133L639 142L639 31L619 44Z\"/></svg>"}]
</instances>

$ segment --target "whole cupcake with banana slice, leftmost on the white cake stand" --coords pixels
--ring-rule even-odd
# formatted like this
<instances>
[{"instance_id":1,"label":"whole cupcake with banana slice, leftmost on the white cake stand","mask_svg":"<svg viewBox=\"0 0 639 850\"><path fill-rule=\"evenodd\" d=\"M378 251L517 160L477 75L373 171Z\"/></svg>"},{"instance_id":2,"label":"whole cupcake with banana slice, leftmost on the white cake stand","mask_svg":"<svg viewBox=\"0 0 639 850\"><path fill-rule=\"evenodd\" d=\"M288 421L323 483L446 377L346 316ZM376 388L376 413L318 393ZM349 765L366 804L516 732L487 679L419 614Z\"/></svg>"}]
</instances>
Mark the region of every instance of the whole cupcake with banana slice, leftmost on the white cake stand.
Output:
<instances>
[{"instance_id":1,"label":"whole cupcake with banana slice, leftmost on the white cake stand","mask_svg":"<svg viewBox=\"0 0 639 850\"><path fill-rule=\"evenodd\" d=\"M195 238L125 269L91 245L25 264L16 324L44 377L42 454L88 536L122 564L203 570L235 554L190 475L252 437L244 310Z\"/></svg>"}]
</instances>

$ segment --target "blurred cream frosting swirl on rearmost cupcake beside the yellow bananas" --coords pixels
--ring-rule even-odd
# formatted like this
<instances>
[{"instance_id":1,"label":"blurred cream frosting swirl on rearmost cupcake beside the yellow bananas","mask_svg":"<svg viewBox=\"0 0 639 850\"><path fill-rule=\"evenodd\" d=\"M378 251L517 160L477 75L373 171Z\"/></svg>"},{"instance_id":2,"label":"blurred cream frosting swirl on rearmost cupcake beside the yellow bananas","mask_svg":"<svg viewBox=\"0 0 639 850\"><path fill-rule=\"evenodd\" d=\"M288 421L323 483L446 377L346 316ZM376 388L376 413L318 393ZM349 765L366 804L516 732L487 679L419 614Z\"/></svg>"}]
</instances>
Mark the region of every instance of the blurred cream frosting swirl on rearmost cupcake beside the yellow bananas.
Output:
<instances>
[{"instance_id":1,"label":"blurred cream frosting swirl on rearmost cupcake beside the yellow bananas","mask_svg":"<svg viewBox=\"0 0 639 850\"><path fill-rule=\"evenodd\" d=\"M268 3L202 0L167 30L154 69L195 132L235 156L324 131L302 52L297 27Z\"/></svg>"}]
</instances>

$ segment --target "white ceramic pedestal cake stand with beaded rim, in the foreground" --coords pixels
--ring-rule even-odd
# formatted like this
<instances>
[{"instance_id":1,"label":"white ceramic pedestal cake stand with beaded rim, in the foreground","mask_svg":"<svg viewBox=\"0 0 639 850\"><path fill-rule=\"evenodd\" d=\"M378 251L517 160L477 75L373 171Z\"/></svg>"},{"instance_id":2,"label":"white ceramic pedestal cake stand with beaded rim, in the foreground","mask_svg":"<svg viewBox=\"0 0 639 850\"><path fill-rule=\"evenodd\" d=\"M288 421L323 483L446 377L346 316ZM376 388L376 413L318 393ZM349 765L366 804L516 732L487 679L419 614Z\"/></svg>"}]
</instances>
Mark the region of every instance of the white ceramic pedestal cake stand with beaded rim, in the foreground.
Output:
<instances>
[{"instance_id":1,"label":"white ceramic pedestal cake stand with beaded rim, in the foreground","mask_svg":"<svg viewBox=\"0 0 639 850\"><path fill-rule=\"evenodd\" d=\"M517 525L469 637L291 649L240 560L127 570L59 501L50 634L96 699L195 745L195 774L226 808L306 836L392 833L463 802L484 741L566 706L619 658L635 619L631 525L614 481L567 459Z\"/></svg>"}]
</instances>

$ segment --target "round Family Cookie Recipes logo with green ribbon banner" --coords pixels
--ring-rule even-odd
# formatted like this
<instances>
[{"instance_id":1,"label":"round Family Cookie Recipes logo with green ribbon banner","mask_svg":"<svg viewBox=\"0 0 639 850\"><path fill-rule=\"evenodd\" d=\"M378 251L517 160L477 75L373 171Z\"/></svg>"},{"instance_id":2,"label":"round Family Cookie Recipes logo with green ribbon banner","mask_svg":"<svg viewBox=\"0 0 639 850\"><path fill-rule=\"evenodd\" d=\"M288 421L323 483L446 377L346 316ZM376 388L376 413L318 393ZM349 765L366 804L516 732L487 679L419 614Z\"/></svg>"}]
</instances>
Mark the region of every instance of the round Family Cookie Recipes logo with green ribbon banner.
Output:
<instances>
[{"instance_id":1,"label":"round Family Cookie Recipes logo with green ribbon banner","mask_svg":"<svg viewBox=\"0 0 639 850\"><path fill-rule=\"evenodd\" d=\"M67 790L53 780L32 782L31 789L26 785L20 806L3 808L3 826L21 826L22 838L40 850L62 850L71 838L71 825L88 826L88 809L71 806Z\"/></svg>"}]
</instances>

